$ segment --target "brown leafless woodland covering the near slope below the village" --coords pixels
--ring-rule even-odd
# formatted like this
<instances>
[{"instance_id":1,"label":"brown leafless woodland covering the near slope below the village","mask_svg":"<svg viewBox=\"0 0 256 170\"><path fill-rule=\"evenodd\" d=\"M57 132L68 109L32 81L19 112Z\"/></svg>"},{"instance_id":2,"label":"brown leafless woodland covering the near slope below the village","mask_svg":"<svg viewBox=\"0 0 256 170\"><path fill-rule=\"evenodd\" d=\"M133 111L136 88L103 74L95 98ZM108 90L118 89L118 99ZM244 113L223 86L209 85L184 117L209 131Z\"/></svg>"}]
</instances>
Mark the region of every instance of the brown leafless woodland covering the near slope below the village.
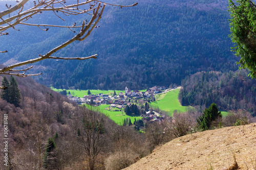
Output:
<instances>
[{"instance_id":1,"label":"brown leafless woodland covering the near slope below the village","mask_svg":"<svg viewBox=\"0 0 256 170\"><path fill-rule=\"evenodd\" d=\"M158 145L199 130L201 111L174 113L172 119L145 124L145 133L140 133L135 130L137 125L117 125L100 110L78 106L31 78L16 80L21 94L19 107L0 99L0 119L6 113L9 117L8 168L121 169ZM240 110L209 125L214 128L253 121L249 112ZM5 168L2 162L1 169Z\"/></svg>"}]
</instances>

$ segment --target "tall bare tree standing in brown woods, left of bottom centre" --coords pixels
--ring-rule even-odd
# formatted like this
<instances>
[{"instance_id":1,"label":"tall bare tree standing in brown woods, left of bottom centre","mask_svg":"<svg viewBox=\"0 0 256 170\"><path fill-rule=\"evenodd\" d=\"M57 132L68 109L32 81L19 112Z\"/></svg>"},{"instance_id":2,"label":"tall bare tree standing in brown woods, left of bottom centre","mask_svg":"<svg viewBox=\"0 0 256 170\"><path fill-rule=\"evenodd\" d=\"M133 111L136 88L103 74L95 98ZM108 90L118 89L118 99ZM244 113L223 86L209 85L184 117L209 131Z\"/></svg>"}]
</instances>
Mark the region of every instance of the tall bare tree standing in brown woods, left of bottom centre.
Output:
<instances>
[{"instance_id":1,"label":"tall bare tree standing in brown woods, left of bottom centre","mask_svg":"<svg viewBox=\"0 0 256 170\"><path fill-rule=\"evenodd\" d=\"M75 124L78 140L87 156L87 168L93 170L100 167L102 162L97 161L97 157L106 147L105 120L95 108L83 106Z\"/></svg>"}]
</instances>

